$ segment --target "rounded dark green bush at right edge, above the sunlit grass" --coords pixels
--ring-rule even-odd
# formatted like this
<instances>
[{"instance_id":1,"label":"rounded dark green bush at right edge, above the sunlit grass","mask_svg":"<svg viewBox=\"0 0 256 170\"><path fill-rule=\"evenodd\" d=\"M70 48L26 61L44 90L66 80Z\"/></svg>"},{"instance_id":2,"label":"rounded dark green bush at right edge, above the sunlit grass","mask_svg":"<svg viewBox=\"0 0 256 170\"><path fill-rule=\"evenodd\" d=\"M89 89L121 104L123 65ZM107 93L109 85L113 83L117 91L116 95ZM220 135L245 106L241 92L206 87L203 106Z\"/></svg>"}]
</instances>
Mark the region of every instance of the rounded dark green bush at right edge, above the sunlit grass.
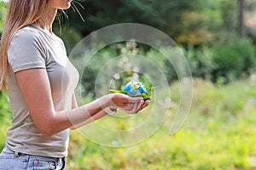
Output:
<instances>
[{"instance_id":1,"label":"rounded dark green bush at right edge, above the sunlit grass","mask_svg":"<svg viewBox=\"0 0 256 170\"><path fill-rule=\"evenodd\" d=\"M216 65L212 77L225 77L226 82L239 78L242 74L249 75L256 65L255 48L250 39L234 38L220 43L213 51Z\"/></svg>"}]
</instances>

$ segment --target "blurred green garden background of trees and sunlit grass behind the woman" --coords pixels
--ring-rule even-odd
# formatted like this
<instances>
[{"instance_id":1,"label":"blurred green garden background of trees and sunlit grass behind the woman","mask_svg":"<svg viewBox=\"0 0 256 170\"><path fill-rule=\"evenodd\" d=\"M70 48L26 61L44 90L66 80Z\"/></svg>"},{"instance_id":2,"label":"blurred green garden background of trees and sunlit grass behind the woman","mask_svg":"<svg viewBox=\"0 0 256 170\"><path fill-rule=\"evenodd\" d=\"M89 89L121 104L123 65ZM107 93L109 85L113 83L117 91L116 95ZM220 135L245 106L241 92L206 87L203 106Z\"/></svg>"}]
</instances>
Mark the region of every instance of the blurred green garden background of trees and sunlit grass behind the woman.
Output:
<instances>
[{"instance_id":1,"label":"blurred green garden background of trees and sunlit grass behind the woman","mask_svg":"<svg viewBox=\"0 0 256 170\"><path fill-rule=\"evenodd\" d=\"M6 6L0 2L0 32ZM256 1L74 0L72 8L59 11L54 30L70 54L91 32L126 22L153 26L172 37L182 49L193 75L189 117L177 134L169 134L180 99L179 94L174 94L166 122L140 144L108 148L73 131L67 169L256 169ZM131 48L129 43L103 48L102 60L97 61L111 59L124 49L125 53L135 51L156 59L171 92L179 90L177 74L164 58L158 58L157 50L141 44ZM94 82L99 69L93 64L86 67L90 72L82 78L86 101L95 99ZM123 76L125 80L131 73ZM2 91L0 149L11 118L8 94ZM129 127L109 117L99 122L115 124L119 129Z\"/></svg>"}]
</instances>

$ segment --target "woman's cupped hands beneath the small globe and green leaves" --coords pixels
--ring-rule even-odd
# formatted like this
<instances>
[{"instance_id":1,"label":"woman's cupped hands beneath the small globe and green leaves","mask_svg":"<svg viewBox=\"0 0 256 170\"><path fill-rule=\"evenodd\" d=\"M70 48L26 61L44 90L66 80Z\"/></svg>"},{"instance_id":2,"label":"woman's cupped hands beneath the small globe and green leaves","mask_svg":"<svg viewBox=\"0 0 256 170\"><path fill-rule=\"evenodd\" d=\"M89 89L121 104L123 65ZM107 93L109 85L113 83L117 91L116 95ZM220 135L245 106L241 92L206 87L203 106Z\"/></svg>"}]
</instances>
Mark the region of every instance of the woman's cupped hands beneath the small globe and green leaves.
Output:
<instances>
[{"instance_id":1,"label":"woman's cupped hands beneath the small globe and green leaves","mask_svg":"<svg viewBox=\"0 0 256 170\"><path fill-rule=\"evenodd\" d=\"M150 99L144 100L143 97L131 97L126 94L112 94L113 106L128 114L135 114L143 110L150 103Z\"/></svg>"}]
</instances>

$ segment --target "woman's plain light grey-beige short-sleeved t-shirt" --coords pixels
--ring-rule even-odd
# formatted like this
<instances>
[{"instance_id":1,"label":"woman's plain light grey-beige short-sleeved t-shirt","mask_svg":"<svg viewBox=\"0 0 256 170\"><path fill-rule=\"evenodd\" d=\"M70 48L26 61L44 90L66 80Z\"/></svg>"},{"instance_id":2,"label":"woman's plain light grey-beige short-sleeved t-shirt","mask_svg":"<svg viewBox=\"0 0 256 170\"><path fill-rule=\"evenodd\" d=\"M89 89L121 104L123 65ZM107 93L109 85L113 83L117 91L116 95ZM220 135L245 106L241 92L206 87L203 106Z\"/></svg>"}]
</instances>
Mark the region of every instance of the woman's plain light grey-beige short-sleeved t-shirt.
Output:
<instances>
[{"instance_id":1,"label":"woman's plain light grey-beige short-sleeved t-shirt","mask_svg":"<svg viewBox=\"0 0 256 170\"><path fill-rule=\"evenodd\" d=\"M24 154L67 156L69 129L45 138L32 121L15 77L17 71L32 68L46 69L55 111L71 110L79 72L67 58L61 38L45 32L38 26L26 26L15 32L9 45L8 60L9 99L14 120L7 133L7 146L10 150Z\"/></svg>"}]
</instances>

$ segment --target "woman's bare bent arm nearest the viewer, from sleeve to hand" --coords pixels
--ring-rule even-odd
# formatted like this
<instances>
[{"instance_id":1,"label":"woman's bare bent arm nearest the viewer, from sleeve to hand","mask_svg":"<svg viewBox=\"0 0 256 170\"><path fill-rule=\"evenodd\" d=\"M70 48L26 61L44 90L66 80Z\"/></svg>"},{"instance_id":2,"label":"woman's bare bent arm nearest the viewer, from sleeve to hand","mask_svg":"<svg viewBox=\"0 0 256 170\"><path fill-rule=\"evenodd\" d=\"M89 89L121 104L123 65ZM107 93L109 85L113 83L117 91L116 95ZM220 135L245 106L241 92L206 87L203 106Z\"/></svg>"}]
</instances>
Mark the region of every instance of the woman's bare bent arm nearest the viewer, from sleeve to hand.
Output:
<instances>
[{"instance_id":1,"label":"woman's bare bent arm nearest the viewer, from sleeve to hand","mask_svg":"<svg viewBox=\"0 0 256 170\"><path fill-rule=\"evenodd\" d=\"M117 106L129 113L136 113L144 107L142 98L108 94L71 111L55 111L45 69L18 71L15 74L32 119L45 137L92 120L92 116L102 113L102 110L109 106Z\"/></svg>"}]
</instances>

